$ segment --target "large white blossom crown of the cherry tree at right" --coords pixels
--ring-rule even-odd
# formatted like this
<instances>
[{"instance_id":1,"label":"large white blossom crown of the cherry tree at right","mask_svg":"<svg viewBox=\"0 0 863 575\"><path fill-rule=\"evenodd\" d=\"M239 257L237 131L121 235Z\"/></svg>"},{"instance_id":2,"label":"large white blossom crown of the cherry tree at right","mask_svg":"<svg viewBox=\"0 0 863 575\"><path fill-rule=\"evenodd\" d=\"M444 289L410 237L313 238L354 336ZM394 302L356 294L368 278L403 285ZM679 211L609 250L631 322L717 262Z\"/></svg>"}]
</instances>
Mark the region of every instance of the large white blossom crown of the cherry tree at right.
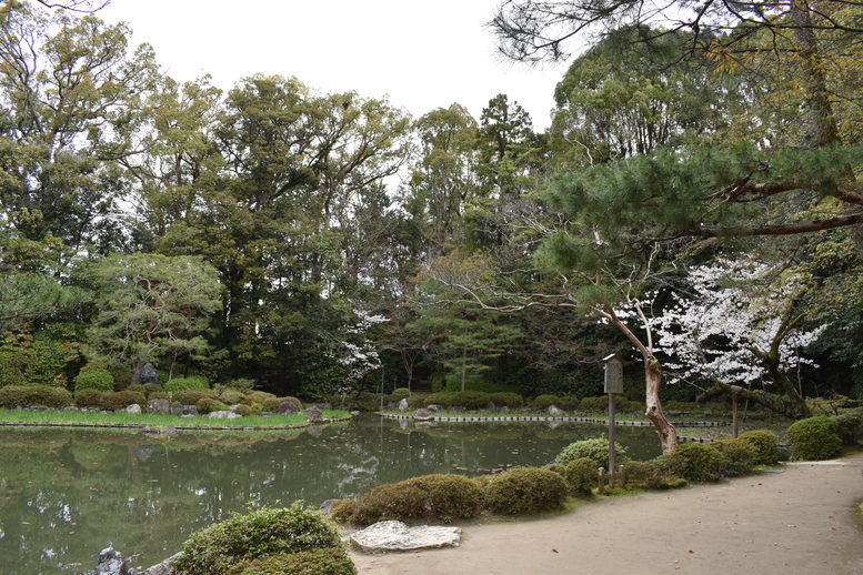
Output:
<instances>
[{"instance_id":1,"label":"large white blossom crown of the cherry tree at right","mask_svg":"<svg viewBox=\"0 0 863 575\"><path fill-rule=\"evenodd\" d=\"M715 379L730 384L764 382L765 367L754 353L767 352L782 330L782 314L801 289L800 279L753 259L719 260L691 270L689 294L673 293L673 305L649 319L669 382ZM800 351L826 326L791 329L781 340L780 367L815 365Z\"/></svg>"}]
</instances>

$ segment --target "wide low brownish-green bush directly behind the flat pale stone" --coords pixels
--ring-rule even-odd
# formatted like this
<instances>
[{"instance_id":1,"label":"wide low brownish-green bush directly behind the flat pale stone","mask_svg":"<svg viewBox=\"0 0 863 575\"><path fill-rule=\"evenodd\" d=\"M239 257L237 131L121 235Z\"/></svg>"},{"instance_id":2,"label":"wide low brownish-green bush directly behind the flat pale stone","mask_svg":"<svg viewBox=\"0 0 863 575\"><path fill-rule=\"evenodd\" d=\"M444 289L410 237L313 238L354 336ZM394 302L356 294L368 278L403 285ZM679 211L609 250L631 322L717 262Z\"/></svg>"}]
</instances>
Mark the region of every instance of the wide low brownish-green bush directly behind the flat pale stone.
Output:
<instances>
[{"instance_id":1,"label":"wide low brownish-green bush directly behind the flat pale stone","mask_svg":"<svg viewBox=\"0 0 863 575\"><path fill-rule=\"evenodd\" d=\"M335 521L369 525L387 519L419 517L450 522L475 517L482 511L482 491L461 475L423 475L380 485L357 500L333 506Z\"/></svg>"}]
</instances>

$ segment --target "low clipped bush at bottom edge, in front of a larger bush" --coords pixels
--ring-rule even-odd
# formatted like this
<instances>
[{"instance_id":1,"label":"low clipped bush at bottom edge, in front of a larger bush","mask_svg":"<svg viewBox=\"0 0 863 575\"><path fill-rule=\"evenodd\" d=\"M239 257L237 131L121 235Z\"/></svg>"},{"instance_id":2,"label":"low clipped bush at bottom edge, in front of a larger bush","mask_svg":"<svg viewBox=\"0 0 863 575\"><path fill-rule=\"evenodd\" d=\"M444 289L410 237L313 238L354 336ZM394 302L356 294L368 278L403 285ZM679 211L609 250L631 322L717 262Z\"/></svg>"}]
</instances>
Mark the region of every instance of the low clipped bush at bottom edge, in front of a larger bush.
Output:
<instances>
[{"instance_id":1,"label":"low clipped bush at bottom edge, in front of a larger bush","mask_svg":"<svg viewBox=\"0 0 863 575\"><path fill-rule=\"evenodd\" d=\"M357 567L344 549L325 547L244 561L228 575L357 575Z\"/></svg>"}]
</instances>

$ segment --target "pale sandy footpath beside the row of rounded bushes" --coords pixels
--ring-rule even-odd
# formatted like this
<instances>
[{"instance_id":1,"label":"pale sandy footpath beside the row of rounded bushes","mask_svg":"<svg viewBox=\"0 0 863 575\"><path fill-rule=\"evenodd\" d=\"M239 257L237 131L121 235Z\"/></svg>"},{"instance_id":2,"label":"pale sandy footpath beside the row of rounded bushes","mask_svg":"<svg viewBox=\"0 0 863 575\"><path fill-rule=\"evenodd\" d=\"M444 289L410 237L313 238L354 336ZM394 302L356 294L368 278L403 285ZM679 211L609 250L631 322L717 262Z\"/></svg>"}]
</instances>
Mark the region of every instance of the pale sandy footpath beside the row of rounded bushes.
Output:
<instances>
[{"instance_id":1,"label":"pale sandy footpath beside the row of rounded bushes","mask_svg":"<svg viewBox=\"0 0 863 575\"><path fill-rule=\"evenodd\" d=\"M375 575L863 575L863 454L612 497L553 518L468 525L458 548L352 553Z\"/></svg>"}]
</instances>

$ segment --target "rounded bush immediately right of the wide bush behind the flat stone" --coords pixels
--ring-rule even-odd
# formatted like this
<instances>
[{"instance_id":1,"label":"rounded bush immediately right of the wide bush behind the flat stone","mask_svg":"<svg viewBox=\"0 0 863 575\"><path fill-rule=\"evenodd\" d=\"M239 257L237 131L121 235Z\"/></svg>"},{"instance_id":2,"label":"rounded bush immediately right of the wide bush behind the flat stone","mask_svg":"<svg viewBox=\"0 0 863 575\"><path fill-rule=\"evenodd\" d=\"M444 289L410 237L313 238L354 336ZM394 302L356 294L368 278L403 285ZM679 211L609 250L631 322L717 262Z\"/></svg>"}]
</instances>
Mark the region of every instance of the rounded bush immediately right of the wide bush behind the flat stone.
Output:
<instances>
[{"instance_id":1,"label":"rounded bush immediately right of the wide bush behind the flat stone","mask_svg":"<svg viewBox=\"0 0 863 575\"><path fill-rule=\"evenodd\" d=\"M486 476L485 507L501 515L524 515L560 508L566 498L563 477L549 470L516 467Z\"/></svg>"}]
</instances>

